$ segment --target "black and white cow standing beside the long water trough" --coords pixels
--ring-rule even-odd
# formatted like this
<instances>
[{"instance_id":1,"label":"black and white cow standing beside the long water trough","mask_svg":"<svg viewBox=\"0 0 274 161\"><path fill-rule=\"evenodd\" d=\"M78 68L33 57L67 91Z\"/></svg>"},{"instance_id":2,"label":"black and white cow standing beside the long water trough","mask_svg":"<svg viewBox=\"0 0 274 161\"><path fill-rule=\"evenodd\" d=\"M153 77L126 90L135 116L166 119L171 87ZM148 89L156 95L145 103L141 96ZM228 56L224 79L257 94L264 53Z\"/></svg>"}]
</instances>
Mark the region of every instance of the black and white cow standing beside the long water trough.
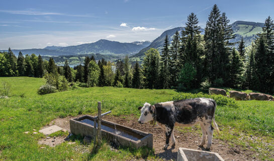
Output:
<instances>
[{"instance_id":1,"label":"black and white cow standing beside the long water trough","mask_svg":"<svg viewBox=\"0 0 274 161\"><path fill-rule=\"evenodd\" d=\"M216 102L207 98L196 98L179 101L169 101L150 105L145 103L143 107L139 107L141 116L138 120L143 124L154 120L158 126L165 130L165 145L164 149L169 144L171 136L172 147L175 146L175 138L173 135L174 126L193 126L200 123L202 129L202 142L200 147L206 143L208 139L207 150L212 144L213 127L211 122L213 120L214 126L219 133L218 125L215 122Z\"/></svg>"}]
</instances>

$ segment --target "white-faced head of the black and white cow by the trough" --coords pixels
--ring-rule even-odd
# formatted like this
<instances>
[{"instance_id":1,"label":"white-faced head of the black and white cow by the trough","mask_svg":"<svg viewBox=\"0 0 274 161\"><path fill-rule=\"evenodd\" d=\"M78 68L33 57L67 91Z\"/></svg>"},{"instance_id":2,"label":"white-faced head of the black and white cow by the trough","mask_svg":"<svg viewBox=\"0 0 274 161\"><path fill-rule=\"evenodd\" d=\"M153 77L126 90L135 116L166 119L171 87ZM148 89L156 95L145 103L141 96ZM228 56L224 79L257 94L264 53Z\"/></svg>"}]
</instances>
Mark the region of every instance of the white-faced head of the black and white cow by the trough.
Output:
<instances>
[{"instance_id":1,"label":"white-faced head of the black and white cow by the trough","mask_svg":"<svg viewBox=\"0 0 274 161\"><path fill-rule=\"evenodd\" d=\"M155 112L155 106L145 103L144 106L138 108L141 111L141 116L138 120L140 124L149 122L153 120L153 114Z\"/></svg>"}]
</instances>

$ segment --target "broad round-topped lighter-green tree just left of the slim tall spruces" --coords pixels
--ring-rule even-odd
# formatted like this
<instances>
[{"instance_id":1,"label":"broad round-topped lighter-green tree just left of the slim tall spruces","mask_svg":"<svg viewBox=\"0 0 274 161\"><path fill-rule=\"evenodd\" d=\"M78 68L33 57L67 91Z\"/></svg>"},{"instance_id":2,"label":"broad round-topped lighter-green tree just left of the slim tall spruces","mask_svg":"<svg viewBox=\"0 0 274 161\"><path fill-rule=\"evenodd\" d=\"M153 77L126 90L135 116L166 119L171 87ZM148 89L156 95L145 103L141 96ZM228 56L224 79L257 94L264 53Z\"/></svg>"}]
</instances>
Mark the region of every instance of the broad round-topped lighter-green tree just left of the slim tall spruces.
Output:
<instances>
[{"instance_id":1,"label":"broad round-topped lighter-green tree just left of the slim tall spruces","mask_svg":"<svg viewBox=\"0 0 274 161\"><path fill-rule=\"evenodd\" d=\"M145 52L143 60L144 86L149 89L159 88L160 54L157 49L150 48Z\"/></svg>"}]
</instances>

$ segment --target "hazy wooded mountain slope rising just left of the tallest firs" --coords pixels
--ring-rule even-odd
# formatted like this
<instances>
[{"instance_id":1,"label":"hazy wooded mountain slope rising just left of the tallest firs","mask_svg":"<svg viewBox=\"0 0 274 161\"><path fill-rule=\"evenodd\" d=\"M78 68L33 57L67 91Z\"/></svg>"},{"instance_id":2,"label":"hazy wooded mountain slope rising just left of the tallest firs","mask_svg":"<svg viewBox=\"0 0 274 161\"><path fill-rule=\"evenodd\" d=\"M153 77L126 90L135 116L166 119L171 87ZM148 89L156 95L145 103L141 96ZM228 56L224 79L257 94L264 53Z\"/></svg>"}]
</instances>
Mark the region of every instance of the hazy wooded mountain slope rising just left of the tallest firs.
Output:
<instances>
[{"instance_id":1,"label":"hazy wooded mountain slope rising just left of the tallest firs","mask_svg":"<svg viewBox=\"0 0 274 161\"><path fill-rule=\"evenodd\" d=\"M179 35L180 35L182 30L185 30L185 28L184 27L176 27L174 29L164 31L159 37L157 37L155 40L153 40L152 43L149 46L143 48L137 54L132 55L131 57L141 57L150 48L155 48L155 49L158 49L160 51L162 49L163 44L164 44L165 35L168 36L168 40L169 40L169 42L171 42L174 33L176 31L178 31ZM205 32L205 30L201 29L201 34L204 34L204 32Z\"/></svg>"}]
</instances>

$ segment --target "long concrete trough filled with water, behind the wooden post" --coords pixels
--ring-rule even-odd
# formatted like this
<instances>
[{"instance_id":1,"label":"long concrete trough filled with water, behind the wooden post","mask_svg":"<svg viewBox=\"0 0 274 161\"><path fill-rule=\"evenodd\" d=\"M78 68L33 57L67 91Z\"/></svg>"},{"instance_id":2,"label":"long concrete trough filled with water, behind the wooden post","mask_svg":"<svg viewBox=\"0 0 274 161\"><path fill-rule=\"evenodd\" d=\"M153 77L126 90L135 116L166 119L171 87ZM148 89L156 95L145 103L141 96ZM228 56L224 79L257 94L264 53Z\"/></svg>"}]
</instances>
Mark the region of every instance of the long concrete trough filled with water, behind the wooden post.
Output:
<instances>
[{"instance_id":1,"label":"long concrete trough filled with water, behind the wooden post","mask_svg":"<svg viewBox=\"0 0 274 161\"><path fill-rule=\"evenodd\" d=\"M75 135L94 137L95 117L84 115L69 120L70 132ZM153 135L130 127L119 125L110 121L101 122L102 137L114 142L118 146L139 148L153 147Z\"/></svg>"}]
</instances>

